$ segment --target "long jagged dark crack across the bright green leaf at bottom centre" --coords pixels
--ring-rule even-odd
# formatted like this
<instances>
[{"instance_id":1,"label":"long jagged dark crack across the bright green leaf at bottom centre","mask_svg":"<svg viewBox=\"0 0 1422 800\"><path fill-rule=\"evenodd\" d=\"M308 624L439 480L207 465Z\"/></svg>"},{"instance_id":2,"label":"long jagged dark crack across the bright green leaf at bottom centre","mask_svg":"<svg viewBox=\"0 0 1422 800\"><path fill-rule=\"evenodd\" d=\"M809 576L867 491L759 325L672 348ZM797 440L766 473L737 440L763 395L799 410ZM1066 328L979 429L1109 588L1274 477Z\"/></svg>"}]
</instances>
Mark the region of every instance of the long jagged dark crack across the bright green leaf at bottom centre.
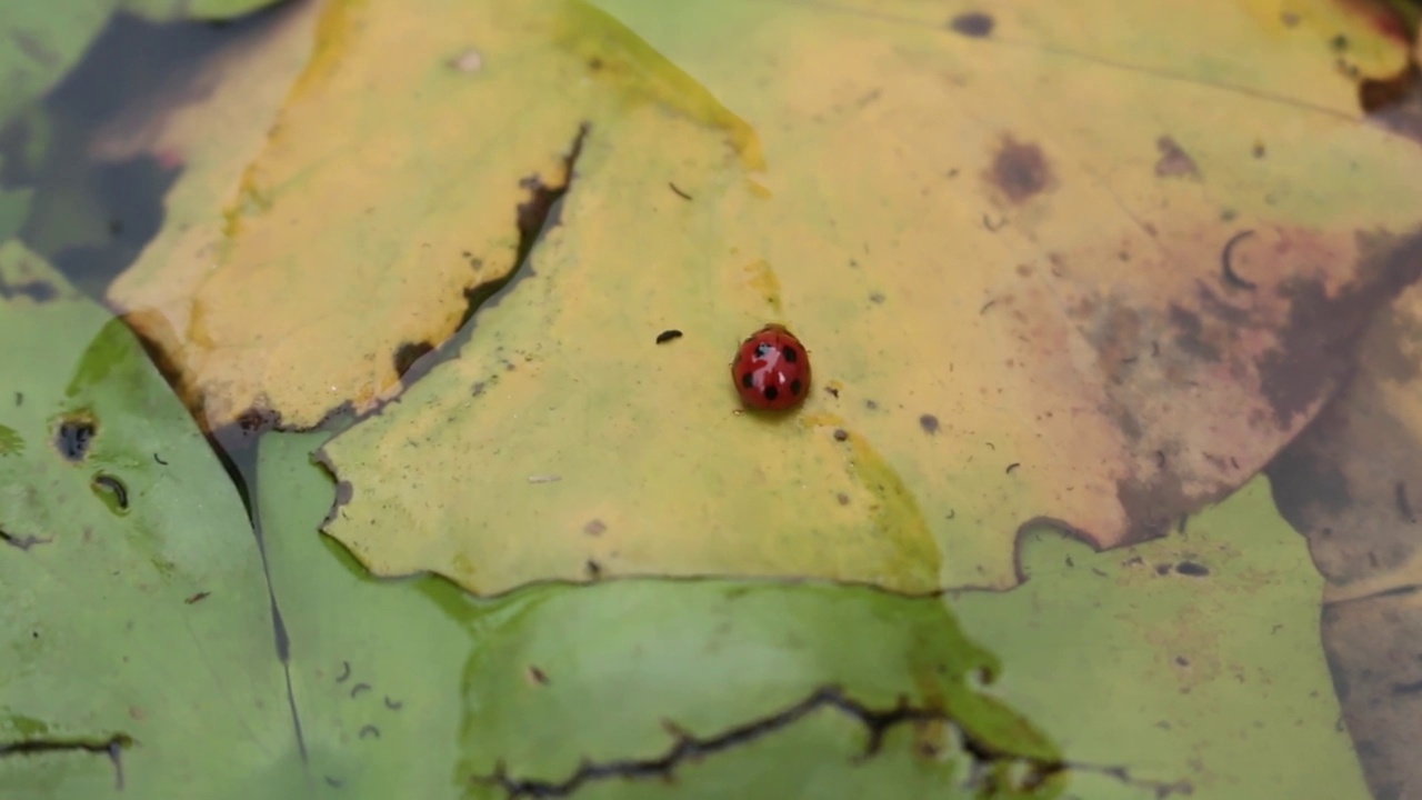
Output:
<instances>
[{"instance_id":1,"label":"long jagged dark crack across the bright green leaf at bottom centre","mask_svg":"<svg viewBox=\"0 0 1422 800\"><path fill-rule=\"evenodd\" d=\"M749 743L762 736L769 736L795 725L805 716L820 709L835 709L842 712L846 716L857 719L866 729L869 729L869 743L860 756L862 759L876 754L883 746L884 735L896 725L954 722L947 712L930 707L914 707L907 705L906 700L900 700L899 705L892 709L872 709L859 703L853 698L849 698L842 689L828 686L813 692L803 700L775 715L732 727L705 739L690 736L668 725L667 727L677 737L677 742L671 746L671 749L657 757L641 760L613 760L604 763L583 762L570 777L562 781L510 777L505 764L501 762L493 774L475 774L471 776L471 781L498 786L503 789L506 797L515 799L567 797L583 787L583 784L609 779L665 779L670 777L675 772L677 766L685 760L712 756L738 744ZM1068 769L1065 762L1005 753L990 746L987 742L975 739L961 726L957 726L957 730L961 735L963 752L973 759L971 783L977 783L984 789L993 789L997 781L1007 779L1007 774L1001 770L988 773L985 767L1001 767L1010 764L1025 766L1025 772L1021 772L1015 777L1014 784L1015 789L1028 791L1042 786L1048 779ZM1109 770L1102 772L1115 774ZM1122 769L1121 772L1123 774L1125 770Z\"/></svg>"}]
</instances>

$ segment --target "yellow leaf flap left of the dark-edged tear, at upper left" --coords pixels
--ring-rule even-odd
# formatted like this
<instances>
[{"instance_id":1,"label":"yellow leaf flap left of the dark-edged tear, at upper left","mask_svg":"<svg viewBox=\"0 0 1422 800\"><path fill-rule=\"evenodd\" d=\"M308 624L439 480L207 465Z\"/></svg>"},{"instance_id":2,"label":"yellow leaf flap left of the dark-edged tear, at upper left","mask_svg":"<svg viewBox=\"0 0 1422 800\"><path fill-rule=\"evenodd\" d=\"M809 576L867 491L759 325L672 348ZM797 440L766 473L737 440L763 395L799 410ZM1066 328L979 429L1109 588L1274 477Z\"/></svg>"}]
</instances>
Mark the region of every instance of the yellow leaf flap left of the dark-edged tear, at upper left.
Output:
<instances>
[{"instance_id":1,"label":"yellow leaf flap left of the dark-edged tear, at upper left","mask_svg":"<svg viewBox=\"0 0 1422 800\"><path fill-rule=\"evenodd\" d=\"M111 290L209 426L368 409L512 269L520 204L566 181L594 94L556 43L566 26L549 3L324 4L240 189Z\"/></svg>"}]
</instances>

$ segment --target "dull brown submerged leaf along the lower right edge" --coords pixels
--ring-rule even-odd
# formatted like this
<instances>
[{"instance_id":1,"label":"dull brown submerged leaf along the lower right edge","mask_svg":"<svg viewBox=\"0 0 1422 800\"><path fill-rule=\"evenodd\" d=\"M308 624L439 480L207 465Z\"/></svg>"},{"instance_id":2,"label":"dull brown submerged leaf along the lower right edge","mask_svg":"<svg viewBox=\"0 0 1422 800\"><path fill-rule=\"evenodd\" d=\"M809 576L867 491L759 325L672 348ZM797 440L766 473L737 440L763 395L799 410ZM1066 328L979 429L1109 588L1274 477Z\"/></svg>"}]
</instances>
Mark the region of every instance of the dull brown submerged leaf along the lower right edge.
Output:
<instances>
[{"instance_id":1,"label":"dull brown submerged leaf along the lower right edge","mask_svg":"<svg viewBox=\"0 0 1422 800\"><path fill-rule=\"evenodd\" d=\"M1422 290L1374 320L1340 397L1270 465L1327 579L1334 685L1374 796L1422 791Z\"/></svg>"}]
</instances>

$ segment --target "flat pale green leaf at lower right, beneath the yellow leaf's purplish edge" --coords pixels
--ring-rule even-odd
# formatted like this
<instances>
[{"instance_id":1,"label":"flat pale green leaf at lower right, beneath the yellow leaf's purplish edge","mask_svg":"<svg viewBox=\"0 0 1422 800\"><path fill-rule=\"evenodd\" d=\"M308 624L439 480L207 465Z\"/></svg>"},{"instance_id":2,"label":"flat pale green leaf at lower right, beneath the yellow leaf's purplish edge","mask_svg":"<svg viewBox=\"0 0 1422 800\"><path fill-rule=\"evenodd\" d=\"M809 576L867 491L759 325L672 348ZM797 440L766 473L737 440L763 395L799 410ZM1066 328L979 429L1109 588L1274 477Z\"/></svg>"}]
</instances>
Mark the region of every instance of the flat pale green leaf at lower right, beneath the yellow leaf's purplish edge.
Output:
<instances>
[{"instance_id":1,"label":"flat pale green leaf at lower right, beneath the yellow leaf's purplish edge","mask_svg":"<svg viewBox=\"0 0 1422 800\"><path fill-rule=\"evenodd\" d=\"M1371 797L1318 641L1322 578L1268 481L1111 552L1034 528L1021 559L1022 585L951 608L1010 666L994 690L1069 759L1118 767L1068 796Z\"/></svg>"}]
</instances>

